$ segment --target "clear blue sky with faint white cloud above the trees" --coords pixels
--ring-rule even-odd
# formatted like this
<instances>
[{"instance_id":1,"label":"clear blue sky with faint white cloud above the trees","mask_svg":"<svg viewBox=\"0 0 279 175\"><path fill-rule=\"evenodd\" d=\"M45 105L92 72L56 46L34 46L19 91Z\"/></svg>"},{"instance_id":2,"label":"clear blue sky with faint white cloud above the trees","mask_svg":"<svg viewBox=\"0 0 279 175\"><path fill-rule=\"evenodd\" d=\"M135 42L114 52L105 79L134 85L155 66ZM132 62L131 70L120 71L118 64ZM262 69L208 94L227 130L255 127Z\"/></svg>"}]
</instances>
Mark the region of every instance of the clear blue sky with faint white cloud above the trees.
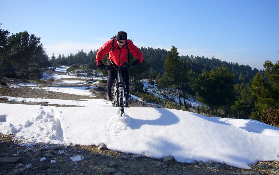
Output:
<instances>
[{"instance_id":1,"label":"clear blue sky with faint white cloud above the trees","mask_svg":"<svg viewBox=\"0 0 279 175\"><path fill-rule=\"evenodd\" d=\"M50 57L98 49L118 31L137 47L263 69L279 60L279 0L0 0L1 28L41 37Z\"/></svg>"}]
</instances>

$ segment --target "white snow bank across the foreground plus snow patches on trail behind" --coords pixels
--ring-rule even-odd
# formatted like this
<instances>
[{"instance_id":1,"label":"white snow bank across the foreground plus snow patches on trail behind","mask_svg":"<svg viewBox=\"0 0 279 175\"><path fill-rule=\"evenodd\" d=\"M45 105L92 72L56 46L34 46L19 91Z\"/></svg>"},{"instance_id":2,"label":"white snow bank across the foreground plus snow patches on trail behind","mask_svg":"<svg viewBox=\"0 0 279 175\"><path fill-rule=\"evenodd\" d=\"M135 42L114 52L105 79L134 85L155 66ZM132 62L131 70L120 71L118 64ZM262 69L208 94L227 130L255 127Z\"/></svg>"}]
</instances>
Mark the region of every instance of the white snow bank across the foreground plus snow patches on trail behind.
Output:
<instances>
[{"instance_id":1,"label":"white snow bank across the foreground plus snow patches on trail behind","mask_svg":"<svg viewBox=\"0 0 279 175\"><path fill-rule=\"evenodd\" d=\"M62 70L65 68L59 68L60 72ZM56 90L59 91L59 88ZM94 96L89 89L84 88L60 90L78 95L88 91L88 96ZM174 109L133 107L126 108L125 115L120 118L119 109L113 108L110 102L103 99L71 101L8 98L83 106L0 104L0 132L15 133L31 142L80 145L105 143L109 149L126 153L157 158L173 155L177 161L187 163L215 160L246 169L250 169L248 164L258 161L279 161L279 128L255 120L206 117Z\"/></svg>"}]
</instances>

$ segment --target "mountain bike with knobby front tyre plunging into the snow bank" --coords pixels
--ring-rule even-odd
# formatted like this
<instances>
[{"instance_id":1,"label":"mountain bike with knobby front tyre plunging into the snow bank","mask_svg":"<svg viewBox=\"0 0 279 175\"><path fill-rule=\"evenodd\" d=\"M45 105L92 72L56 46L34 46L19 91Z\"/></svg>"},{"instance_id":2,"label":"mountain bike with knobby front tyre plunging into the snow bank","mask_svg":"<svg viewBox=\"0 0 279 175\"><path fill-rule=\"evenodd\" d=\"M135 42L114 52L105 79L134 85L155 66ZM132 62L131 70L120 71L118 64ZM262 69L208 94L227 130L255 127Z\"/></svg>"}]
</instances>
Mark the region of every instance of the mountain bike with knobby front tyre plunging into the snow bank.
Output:
<instances>
[{"instance_id":1,"label":"mountain bike with knobby front tyre plunging into the snow bank","mask_svg":"<svg viewBox=\"0 0 279 175\"><path fill-rule=\"evenodd\" d=\"M124 68L131 68L131 64L124 64L122 66L106 66L106 70L110 68L116 69L116 83L113 88L113 94L112 94L112 106L113 107L119 107L120 108L120 117L124 114L124 107L128 106L128 96L127 96L127 88L126 83L122 80L122 73L121 70Z\"/></svg>"}]
</instances>

